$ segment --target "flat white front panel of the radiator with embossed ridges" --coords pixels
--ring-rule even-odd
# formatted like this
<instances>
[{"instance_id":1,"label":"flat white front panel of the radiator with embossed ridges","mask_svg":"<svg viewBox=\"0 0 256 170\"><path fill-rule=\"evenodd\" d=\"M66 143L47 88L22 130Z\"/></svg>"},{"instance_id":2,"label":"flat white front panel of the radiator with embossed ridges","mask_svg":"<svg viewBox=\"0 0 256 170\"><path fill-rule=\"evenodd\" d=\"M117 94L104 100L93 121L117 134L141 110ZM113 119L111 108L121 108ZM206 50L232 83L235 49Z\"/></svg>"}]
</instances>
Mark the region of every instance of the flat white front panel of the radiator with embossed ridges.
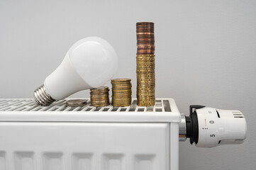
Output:
<instances>
[{"instance_id":1,"label":"flat white front panel of the radiator with embossed ridges","mask_svg":"<svg viewBox=\"0 0 256 170\"><path fill-rule=\"evenodd\" d=\"M0 123L0 129L1 170L169 168L169 123Z\"/></svg>"}]
</instances>

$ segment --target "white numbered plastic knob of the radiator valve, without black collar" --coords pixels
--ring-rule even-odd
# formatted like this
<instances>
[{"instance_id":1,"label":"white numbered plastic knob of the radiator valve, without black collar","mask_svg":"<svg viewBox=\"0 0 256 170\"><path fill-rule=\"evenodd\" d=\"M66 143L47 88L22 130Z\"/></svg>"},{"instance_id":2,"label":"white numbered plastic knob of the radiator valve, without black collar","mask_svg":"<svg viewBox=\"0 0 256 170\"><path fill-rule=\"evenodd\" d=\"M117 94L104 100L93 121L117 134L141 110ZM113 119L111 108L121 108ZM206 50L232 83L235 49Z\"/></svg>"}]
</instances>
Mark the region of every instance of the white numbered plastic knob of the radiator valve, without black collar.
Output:
<instances>
[{"instance_id":1,"label":"white numbered plastic knob of the radiator valve, without black collar","mask_svg":"<svg viewBox=\"0 0 256 170\"><path fill-rule=\"evenodd\" d=\"M216 108L196 109L199 124L197 147L216 147L243 143L246 137L246 121L240 111Z\"/></svg>"}]
</instances>

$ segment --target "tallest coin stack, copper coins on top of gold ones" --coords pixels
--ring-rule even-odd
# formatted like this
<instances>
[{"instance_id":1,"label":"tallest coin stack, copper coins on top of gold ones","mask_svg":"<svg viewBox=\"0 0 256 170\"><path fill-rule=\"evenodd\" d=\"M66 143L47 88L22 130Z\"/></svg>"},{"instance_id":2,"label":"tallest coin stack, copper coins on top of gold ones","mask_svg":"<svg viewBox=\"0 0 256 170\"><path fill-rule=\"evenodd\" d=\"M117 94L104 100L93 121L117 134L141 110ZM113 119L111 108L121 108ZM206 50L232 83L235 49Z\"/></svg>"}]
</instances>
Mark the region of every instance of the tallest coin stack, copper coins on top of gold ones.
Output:
<instances>
[{"instance_id":1,"label":"tallest coin stack, copper coins on top of gold ones","mask_svg":"<svg viewBox=\"0 0 256 170\"><path fill-rule=\"evenodd\" d=\"M137 105L155 105L154 23L136 23L137 35Z\"/></svg>"}]
</instances>

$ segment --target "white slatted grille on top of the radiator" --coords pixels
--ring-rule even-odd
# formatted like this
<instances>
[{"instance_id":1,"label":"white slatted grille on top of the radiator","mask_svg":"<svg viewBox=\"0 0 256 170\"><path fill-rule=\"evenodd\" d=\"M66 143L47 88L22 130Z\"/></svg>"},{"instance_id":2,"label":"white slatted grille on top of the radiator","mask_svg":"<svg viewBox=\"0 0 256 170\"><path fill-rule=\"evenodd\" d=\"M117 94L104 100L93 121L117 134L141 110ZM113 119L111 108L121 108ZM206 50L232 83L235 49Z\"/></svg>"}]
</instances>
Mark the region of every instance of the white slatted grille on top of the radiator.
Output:
<instances>
[{"instance_id":1,"label":"white slatted grille on top of the radiator","mask_svg":"<svg viewBox=\"0 0 256 170\"><path fill-rule=\"evenodd\" d=\"M69 99L67 99L69 100ZM87 105L82 107L66 106L66 99L52 103L50 106L38 106L31 98L27 99L0 99L0 111L111 111L111 112L170 112L170 103L168 99L157 98L155 106L140 107L137 106L137 100L133 99L132 105L128 107L94 107L88 99Z\"/></svg>"}]
</instances>

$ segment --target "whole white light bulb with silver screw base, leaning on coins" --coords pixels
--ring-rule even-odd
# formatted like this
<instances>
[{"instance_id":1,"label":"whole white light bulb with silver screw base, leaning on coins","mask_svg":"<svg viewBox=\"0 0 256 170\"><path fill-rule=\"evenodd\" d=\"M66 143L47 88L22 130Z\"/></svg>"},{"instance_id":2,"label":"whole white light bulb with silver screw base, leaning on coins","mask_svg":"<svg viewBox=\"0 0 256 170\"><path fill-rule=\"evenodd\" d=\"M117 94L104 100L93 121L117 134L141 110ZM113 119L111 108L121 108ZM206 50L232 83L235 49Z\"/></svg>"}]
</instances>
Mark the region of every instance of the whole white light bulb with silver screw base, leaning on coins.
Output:
<instances>
[{"instance_id":1,"label":"whole white light bulb with silver screw base, leaning on coins","mask_svg":"<svg viewBox=\"0 0 256 170\"><path fill-rule=\"evenodd\" d=\"M76 42L57 69L34 91L36 103L49 106L76 93L106 84L118 66L113 47L104 39L88 37Z\"/></svg>"}]
</instances>

